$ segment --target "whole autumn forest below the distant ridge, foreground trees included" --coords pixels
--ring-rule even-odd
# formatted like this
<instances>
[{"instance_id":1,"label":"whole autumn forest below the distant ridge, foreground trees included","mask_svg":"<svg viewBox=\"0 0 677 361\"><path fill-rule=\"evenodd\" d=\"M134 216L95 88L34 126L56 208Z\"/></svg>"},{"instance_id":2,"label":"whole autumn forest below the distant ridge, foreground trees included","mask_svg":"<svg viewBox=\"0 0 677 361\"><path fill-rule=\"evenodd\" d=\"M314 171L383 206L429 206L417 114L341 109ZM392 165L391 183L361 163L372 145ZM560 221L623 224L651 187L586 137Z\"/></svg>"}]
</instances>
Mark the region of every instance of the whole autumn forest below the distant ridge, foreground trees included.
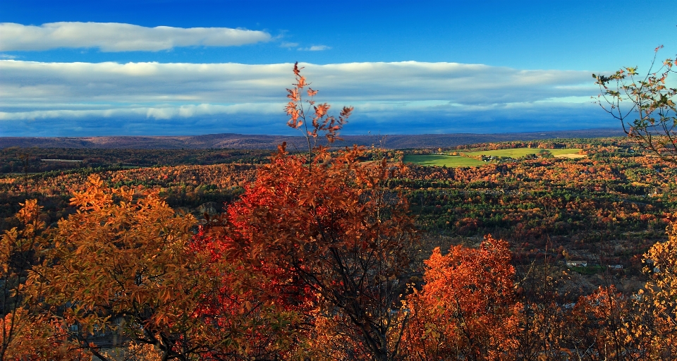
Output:
<instances>
[{"instance_id":1,"label":"whole autumn forest below the distant ridge, foreground trees included","mask_svg":"<svg viewBox=\"0 0 677 361\"><path fill-rule=\"evenodd\" d=\"M335 147L297 65L305 149L0 149L0 360L675 360L673 62L627 137Z\"/></svg>"}]
</instances>

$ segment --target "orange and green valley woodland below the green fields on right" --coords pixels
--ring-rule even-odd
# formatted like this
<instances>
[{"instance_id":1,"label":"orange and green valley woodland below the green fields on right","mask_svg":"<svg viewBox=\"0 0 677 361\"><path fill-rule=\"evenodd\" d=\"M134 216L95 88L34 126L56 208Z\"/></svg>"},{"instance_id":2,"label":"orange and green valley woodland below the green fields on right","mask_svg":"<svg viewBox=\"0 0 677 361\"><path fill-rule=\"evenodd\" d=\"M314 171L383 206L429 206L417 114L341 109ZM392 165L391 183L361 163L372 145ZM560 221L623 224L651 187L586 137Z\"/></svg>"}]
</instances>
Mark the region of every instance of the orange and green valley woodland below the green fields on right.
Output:
<instances>
[{"instance_id":1,"label":"orange and green valley woodland below the green fields on right","mask_svg":"<svg viewBox=\"0 0 677 361\"><path fill-rule=\"evenodd\" d=\"M388 185L408 195L424 229L523 240L609 226L620 233L664 228L677 206L676 176L657 158L604 157L466 169L408 166Z\"/></svg>"}]
</instances>

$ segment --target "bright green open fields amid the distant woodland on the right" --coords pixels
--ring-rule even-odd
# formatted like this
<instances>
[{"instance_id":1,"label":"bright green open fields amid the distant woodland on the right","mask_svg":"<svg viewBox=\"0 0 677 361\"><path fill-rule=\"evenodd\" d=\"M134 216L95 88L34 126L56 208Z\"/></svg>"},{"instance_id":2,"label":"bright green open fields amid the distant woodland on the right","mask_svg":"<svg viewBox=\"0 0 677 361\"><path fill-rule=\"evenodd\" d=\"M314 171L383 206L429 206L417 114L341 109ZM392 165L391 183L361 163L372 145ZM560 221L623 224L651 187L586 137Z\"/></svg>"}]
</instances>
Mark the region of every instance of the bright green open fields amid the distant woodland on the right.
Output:
<instances>
[{"instance_id":1,"label":"bright green open fields amid the distant woodland on the right","mask_svg":"<svg viewBox=\"0 0 677 361\"><path fill-rule=\"evenodd\" d=\"M538 154L543 149L539 148L514 148L514 149L499 149L499 150L480 150L477 152L463 152L463 154L468 154L470 156L476 157L479 155L486 155L487 157L511 157L511 158L520 158L524 157L527 154ZM578 154L580 149L546 149L554 155L566 156L566 154ZM420 164L422 166L448 166L451 168L456 168L459 166L481 166L482 164L487 164L484 161L479 161L477 159L472 159L468 157L461 157L457 155L446 155L446 154L406 154L404 156L405 163L414 163Z\"/></svg>"}]
</instances>

